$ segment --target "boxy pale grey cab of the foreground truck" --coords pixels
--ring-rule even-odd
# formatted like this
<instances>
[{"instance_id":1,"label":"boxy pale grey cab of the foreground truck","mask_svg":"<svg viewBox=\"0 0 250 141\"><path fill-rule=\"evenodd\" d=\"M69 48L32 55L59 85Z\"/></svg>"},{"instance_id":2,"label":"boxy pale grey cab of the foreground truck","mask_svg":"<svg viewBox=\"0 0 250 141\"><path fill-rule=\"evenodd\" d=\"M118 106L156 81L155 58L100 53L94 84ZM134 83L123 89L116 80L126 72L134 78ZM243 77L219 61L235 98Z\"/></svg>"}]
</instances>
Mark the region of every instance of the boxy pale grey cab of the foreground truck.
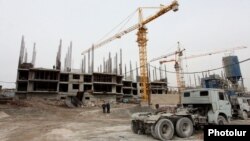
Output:
<instances>
[{"instance_id":1,"label":"boxy pale grey cab of the foreground truck","mask_svg":"<svg viewBox=\"0 0 250 141\"><path fill-rule=\"evenodd\" d=\"M218 118L223 117L229 122L232 117L230 101L222 89L185 90L181 96L181 104L184 108L191 110L192 115L198 115L193 116L194 120L198 122L205 123L204 120L207 120L209 124L220 124Z\"/></svg>"}]
</instances>

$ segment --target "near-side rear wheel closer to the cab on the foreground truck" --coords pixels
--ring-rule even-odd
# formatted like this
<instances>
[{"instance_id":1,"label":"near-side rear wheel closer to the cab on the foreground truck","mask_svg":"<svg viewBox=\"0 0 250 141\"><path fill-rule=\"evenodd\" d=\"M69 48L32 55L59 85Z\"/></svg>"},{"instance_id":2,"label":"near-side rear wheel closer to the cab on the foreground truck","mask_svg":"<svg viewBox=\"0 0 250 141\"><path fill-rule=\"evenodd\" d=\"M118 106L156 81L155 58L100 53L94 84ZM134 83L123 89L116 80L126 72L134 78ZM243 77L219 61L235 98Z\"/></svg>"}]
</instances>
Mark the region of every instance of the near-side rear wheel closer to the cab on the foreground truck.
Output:
<instances>
[{"instance_id":1,"label":"near-side rear wheel closer to the cab on the foreground truck","mask_svg":"<svg viewBox=\"0 0 250 141\"><path fill-rule=\"evenodd\" d=\"M181 138L190 137L194 132L193 122L187 118L180 118L175 126L176 133Z\"/></svg>"}]
</instances>

